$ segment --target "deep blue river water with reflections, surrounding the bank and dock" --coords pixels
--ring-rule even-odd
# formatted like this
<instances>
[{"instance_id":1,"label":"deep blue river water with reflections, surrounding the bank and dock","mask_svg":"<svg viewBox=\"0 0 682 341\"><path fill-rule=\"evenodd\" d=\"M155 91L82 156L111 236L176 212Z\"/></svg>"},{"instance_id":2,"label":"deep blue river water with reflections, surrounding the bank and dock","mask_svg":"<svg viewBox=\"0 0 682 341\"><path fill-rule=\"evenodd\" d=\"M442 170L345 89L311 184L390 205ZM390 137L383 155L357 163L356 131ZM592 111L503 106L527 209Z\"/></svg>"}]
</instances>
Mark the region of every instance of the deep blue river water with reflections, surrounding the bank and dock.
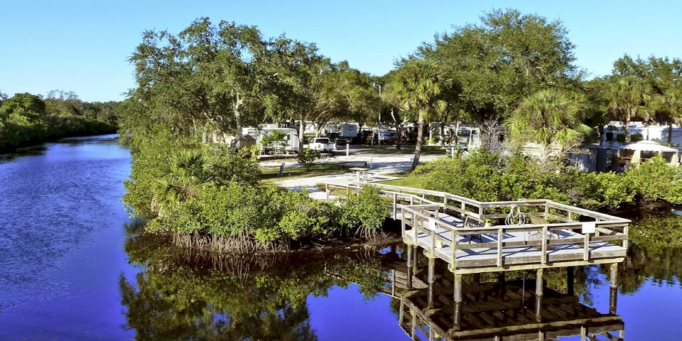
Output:
<instances>
[{"instance_id":1,"label":"deep blue river water with reflections, surrounding the bank and dock","mask_svg":"<svg viewBox=\"0 0 682 341\"><path fill-rule=\"evenodd\" d=\"M413 340L413 316L452 320L449 309L418 310L423 290L401 299L401 245L227 257L139 235L120 201L130 162L116 136L65 139L2 157L0 340ZM565 294L561 274L546 275L546 297L558 305L543 315L544 327L516 323L519 332L476 340L581 340L581 327L592 340L610 340L603 330L625 340L682 340L682 240L651 238L682 222L637 224L644 237L619 266L616 315L609 312L607 268L588 266L576 269L575 297ZM519 303L512 297L534 283L523 281L531 275L509 278L509 302L471 298L470 307L507 307L470 311L463 319L472 335L476 328L507 328L531 310L524 294ZM494 283L476 288L486 293L481 299L497 297L487 294L499 290ZM440 293L445 307L447 286ZM428 340L428 319L414 326L415 336Z\"/></svg>"}]
</instances>

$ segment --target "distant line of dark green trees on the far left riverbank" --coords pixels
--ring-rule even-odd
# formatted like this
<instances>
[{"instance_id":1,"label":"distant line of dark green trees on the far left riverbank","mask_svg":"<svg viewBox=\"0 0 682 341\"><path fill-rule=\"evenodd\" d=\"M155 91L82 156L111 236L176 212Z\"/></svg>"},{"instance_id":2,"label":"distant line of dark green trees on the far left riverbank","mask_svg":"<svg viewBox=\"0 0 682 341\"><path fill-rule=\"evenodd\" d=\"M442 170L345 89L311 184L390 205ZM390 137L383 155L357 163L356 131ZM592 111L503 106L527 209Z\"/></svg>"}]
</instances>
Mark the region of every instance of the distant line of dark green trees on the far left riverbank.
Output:
<instances>
[{"instance_id":1,"label":"distant line of dark green trees on the far left riverbank","mask_svg":"<svg viewBox=\"0 0 682 341\"><path fill-rule=\"evenodd\" d=\"M0 151L117 131L120 102L82 102L73 92L51 91L47 97L0 94Z\"/></svg>"}]
</instances>

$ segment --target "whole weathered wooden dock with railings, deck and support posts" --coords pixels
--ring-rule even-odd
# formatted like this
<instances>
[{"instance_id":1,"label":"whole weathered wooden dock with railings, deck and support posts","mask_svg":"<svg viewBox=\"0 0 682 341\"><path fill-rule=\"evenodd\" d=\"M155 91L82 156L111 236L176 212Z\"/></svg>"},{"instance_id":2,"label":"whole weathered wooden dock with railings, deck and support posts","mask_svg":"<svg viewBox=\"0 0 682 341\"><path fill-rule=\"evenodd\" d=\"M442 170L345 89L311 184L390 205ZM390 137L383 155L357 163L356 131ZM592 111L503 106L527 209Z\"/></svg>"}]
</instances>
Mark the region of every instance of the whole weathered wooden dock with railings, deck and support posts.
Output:
<instances>
[{"instance_id":1,"label":"whole weathered wooden dock with railings, deck and support posts","mask_svg":"<svg viewBox=\"0 0 682 341\"><path fill-rule=\"evenodd\" d=\"M433 190L373 185L381 188L382 195L392 202L391 217L401 221L402 238L407 244L407 271L400 282L408 286L406 293L411 292L415 283L420 283L413 278L413 266L418 264L418 251L421 250L428 258L426 283L421 282L427 288L420 289L426 295L422 300L426 302L426 310L431 313L450 310L448 313L452 313L451 320L445 324L449 329L438 330L438 334L447 332L448 335L466 336L460 333L463 327L469 328L463 312L471 306L466 303L462 276L486 272L497 272L504 281L505 271L536 271L535 286L529 286L534 287L531 292L535 301L534 313L529 315L534 322L529 325L542 329L548 328L548 325L543 325L543 315L556 313L551 309L545 311L546 303L556 301L544 298L545 269L566 269L568 291L572 296L574 266L610 264L611 302L610 316L606 320L615 319L617 264L626 256L629 220L551 200L479 202ZM334 188L338 193L352 195L361 190L361 185L326 183L325 188L329 197ZM450 296L452 304L448 303L450 300L438 303L439 298L435 294L436 261L444 262L453 274L449 288L453 293ZM525 295L521 293L522 297ZM417 315L414 312L411 316ZM588 315L583 320L597 318L601 321L605 318ZM616 327L619 325L622 323L615 324ZM411 328L413 332L414 322ZM584 332L585 329L583 335ZM432 340L431 337L429 339ZM622 337L611 337L611 340L622 340Z\"/></svg>"}]
</instances>

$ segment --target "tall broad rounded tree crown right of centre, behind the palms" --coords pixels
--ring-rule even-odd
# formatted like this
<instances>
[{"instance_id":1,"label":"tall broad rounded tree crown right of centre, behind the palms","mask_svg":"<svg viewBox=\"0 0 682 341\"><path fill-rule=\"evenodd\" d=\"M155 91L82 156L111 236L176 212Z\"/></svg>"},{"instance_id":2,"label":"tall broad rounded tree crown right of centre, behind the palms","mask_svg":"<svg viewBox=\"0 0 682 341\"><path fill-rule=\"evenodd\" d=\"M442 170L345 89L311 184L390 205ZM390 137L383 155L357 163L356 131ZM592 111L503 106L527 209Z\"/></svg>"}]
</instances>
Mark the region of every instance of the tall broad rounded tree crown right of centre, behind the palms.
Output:
<instances>
[{"instance_id":1,"label":"tall broad rounded tree crown right of centre, behind the palms","mask_svg":"<svg viewBox=\"0 0 682 341\"><path fill-rule=\"evenodd\" d=\"M529 94L568 89L582 77L561 21L514 9L493 10L480 19L479 25L437 34L416 52L448 66L461 87L462 109L475 121L504 119Z\"/></svg>"}]
</instances>

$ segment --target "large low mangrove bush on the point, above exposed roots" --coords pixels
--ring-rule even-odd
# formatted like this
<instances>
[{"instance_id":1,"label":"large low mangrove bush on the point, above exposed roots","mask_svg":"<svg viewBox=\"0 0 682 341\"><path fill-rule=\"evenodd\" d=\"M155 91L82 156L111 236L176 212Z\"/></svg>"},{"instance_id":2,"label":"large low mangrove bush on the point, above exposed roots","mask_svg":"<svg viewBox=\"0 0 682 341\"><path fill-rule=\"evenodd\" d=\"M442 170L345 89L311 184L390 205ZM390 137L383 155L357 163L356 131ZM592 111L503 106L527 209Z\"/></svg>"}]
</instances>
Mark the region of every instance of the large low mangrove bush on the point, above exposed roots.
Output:
<instances>
[{"instance_id":1,"label":"large low mangrove bush on the point, above exposed roots","mask_svg":"<svg viewBox=\"0 0 682 341\"><path fill-rule=\"evenodd\" d=\"M235 247L268 248L291 240L323 239L338 226L339 208L305 191L266 190L238 183L204 188L202 197L181 202L150 227L181 234L231 239Z\"/></svg>"}]
</instances>

